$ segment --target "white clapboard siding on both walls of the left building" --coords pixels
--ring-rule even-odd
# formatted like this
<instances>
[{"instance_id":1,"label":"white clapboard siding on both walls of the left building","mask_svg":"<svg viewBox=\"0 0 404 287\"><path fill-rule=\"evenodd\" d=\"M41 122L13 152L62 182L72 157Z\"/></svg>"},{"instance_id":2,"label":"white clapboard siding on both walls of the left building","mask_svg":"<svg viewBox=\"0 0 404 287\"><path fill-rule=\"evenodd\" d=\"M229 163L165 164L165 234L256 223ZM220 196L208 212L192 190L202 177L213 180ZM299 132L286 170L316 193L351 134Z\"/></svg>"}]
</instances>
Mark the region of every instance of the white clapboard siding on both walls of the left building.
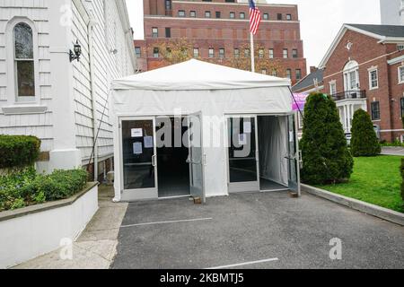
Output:
<instances>
[{"instance_id":1,"label":"white clapboard siding on both walls of the left building","mask_svg":"<svg viewBox=\"0 0 404 287\"><path fill-rule=\"evenodd\" d=\"M53 126L51 110L51 65L49 55L50 27L48 22L48 1L51 0L0 0L0 134L9 135L37 135L42 140L41 150L51 151L53 148ZM102 158L112 155L112 126L108 109L111 80L133 74L135 67L131 64L131 54L134 53L126 39L127 28L122 24L119 14L119 1L122 0L71 0L73 25L72 46L77 39L82 46L83 55L80 62L73 65L73 100L75 113L75 143L76 148L82 152L85 164L92 152L94 125L92 121L92 95L95 99L96 128L100 125L99 156ZM87 9L83 10L83 4ZM79 3L80 7L76 4ZM83 13L87 13L84 15ZM88 13L97 22L93 28L93 87L91 85L88 27L86 19ZM41 105L48 110L44 114L30 115L4 115L2 107L12 106L13 102L7 100L7 65L5 57L8 48L5 35L7 22L14 16L29 18L35 23L38 31L38 74L39 99ZM111 50L117 49L114 55ZM67 81L68 79L66 79ZM91 89L93 89L91 91ZM55 98L56 100L57 98ZM104 115L102 116L102 114ZM57 117L57 115L55 115ZM102 120L101 120L102 118Z\"/></svg>"}]
</instances>

